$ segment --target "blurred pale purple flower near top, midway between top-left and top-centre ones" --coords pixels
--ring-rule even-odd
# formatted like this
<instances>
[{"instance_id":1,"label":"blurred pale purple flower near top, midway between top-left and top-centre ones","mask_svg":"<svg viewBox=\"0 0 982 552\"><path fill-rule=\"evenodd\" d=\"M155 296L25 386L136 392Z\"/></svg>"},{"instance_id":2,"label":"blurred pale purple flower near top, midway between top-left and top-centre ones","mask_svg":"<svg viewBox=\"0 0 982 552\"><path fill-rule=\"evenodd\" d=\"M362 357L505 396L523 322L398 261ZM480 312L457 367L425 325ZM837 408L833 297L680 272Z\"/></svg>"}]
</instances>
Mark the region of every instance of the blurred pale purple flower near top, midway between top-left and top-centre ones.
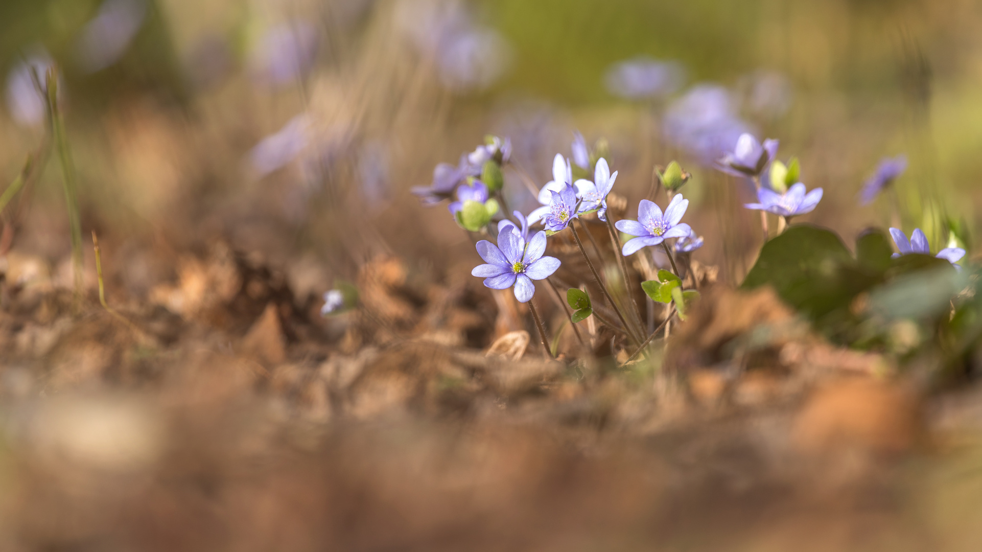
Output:
<instances>
[{"instance_id":1,"label":"blurred pale purple flower near top, midway between top-left and top-centre ones","mask_svg":"<svg viewBox=\"0 0 982 552\"><path fill-rule=\"evenodd\" d=\"M317 28L294 21L270 28L252 50L249 64L253 74L272 84L292 83L313 67L317 56Z\"/></svg>"}]
</instances>

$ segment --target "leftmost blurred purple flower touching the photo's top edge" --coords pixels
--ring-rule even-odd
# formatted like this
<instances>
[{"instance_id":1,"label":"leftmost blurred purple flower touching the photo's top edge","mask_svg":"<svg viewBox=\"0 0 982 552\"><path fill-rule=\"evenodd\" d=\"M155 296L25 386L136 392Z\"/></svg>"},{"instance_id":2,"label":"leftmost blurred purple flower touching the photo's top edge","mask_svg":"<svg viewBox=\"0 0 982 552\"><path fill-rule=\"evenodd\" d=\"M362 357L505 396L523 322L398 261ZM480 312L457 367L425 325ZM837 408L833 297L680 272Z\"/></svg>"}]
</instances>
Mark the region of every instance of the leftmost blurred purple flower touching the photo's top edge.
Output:
<instances>
[{"instance_id":1,"label":"leftmost blurred purple flower touching the photo's top edge","mask_svg":"<svg viewBox=\"0 0 982 552\"><path fill-rule=\"evenodd\" d=\"M144 0L105 0L79 36L82 69L94 73L116 63L130 47L144 17Z\"/></svg>"}]
</instances>

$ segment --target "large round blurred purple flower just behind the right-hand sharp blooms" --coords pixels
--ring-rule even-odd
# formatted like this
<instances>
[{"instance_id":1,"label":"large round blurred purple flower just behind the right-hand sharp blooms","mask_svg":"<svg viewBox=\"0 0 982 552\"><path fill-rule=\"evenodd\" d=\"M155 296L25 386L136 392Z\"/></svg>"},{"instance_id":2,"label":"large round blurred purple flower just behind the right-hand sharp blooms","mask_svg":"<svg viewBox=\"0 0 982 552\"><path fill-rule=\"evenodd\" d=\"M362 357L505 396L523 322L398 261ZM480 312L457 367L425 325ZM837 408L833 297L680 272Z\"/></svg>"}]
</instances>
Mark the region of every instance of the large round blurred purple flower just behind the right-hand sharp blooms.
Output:
<instances>
[{"instance_id":1,"label":"large round blurred purple flower just behind the right-hand sharp blooms","mask_svg":"<svg viewBox=\"0 0 982 552\"><path fill-rule=\"evenodd\" d=\"M736 116L729 90L715 84L700 84L668 106L665 137L698 156L706 165L714 163L736 145L749 126Z\"/></svg>"}]
</instances>

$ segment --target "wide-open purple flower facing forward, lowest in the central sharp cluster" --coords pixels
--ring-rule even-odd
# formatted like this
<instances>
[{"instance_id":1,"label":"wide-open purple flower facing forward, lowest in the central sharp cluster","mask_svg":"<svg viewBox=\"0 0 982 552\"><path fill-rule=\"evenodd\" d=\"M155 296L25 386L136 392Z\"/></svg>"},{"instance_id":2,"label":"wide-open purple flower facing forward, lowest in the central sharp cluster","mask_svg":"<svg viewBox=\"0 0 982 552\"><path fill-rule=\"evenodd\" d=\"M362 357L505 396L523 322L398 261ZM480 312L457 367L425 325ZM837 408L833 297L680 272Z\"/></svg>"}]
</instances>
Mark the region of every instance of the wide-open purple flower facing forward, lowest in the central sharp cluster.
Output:
<instances>
[{"instance_id":1,"label":"wide-open purple flower facing forward, lowest in the central sharp cluster","mask_svg":"<svg viewBox=\"0 0 982 552\"><path fill-rule=\"evenodd\" d=\"M552 276L560 266L556 257L542 256L546 250L546 233L539 231L525 244L511 230L498 233L498 245L487 240L477 243L477 254L484 262L470 271L484 278L484 285L492 290L507 290L515 286L515 298L527 303L535 295L532 280L544 280Z\"/></svg>"}]
</instances>

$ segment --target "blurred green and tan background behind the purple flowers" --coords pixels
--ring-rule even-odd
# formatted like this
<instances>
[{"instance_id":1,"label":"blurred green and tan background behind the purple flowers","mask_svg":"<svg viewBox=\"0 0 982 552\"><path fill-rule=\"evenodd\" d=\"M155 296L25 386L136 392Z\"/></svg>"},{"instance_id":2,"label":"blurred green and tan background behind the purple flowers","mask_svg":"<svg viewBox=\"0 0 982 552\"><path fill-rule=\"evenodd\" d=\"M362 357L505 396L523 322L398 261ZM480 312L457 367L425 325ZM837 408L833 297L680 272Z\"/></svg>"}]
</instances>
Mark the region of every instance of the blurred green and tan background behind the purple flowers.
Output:
<instances>
[{"instance_id":1,"label":"blurred green and tan background behind the purple flowers","mask_svg":"<svg viewBox=\"0 0 982 552\"><path fill-rule=\"evenodd\" d=\"M710 163L741 132L800 158L802 181L825 190L803 218L846 243L889 220L886 198L856 201L884 156L910 160L904 229L935 247L978 200L970 0L8 0L0 22L5 180L43 134L27 68L55 64L84 235L136 252L221 237L306 259L321 268L300 295L380 251L437 273L473 260L443 207L409 188L488 133L512 139L536 186L574 131L606 139L627 216L654 165L679 159L706 237L697 258L736 281L757 247L755 213L737 208L752 189ZM537 206L518 171L505 177L513 208ZM52 262L70 246L60 178L54 163L41 173L14 239ZM127 292L173 270L150 265L116 267Z\"/></svg>"}]
</instances>

